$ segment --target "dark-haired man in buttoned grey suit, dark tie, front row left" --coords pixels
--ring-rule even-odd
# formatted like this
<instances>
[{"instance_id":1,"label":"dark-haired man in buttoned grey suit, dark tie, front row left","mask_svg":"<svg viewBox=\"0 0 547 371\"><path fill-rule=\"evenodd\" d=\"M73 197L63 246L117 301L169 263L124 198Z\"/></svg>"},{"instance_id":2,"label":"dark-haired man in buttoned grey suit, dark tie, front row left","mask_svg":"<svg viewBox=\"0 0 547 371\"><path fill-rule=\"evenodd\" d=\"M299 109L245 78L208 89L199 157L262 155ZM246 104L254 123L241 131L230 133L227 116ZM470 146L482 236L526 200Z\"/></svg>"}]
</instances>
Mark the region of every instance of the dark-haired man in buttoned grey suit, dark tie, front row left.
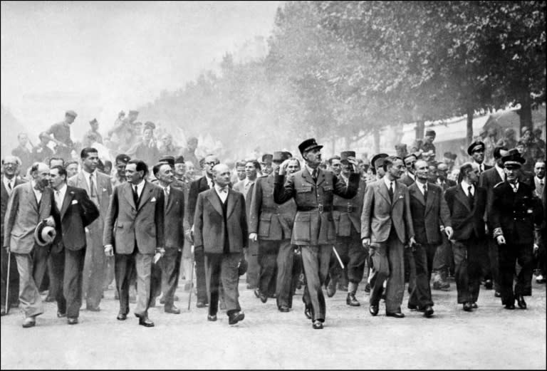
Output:
<instances>
[{"instance_id":1,"label":"dark-haired man in buttoned grey suit, dark tie, front row left","mask_svg":"<svg viewBox=\"0 0 547 371\"><path fill-rule=\"evenodd\" d=\"M129 312L129 278L137 271L139 325L153 327L148 318L152 258L163 253L165 197L160 187L147 182L148 167L142 160L131 160L125 167L127 182L114 188L105 218L105 254L115 254L115 278L120 297L118 320Z\"/></svg>"}]
</instances>

